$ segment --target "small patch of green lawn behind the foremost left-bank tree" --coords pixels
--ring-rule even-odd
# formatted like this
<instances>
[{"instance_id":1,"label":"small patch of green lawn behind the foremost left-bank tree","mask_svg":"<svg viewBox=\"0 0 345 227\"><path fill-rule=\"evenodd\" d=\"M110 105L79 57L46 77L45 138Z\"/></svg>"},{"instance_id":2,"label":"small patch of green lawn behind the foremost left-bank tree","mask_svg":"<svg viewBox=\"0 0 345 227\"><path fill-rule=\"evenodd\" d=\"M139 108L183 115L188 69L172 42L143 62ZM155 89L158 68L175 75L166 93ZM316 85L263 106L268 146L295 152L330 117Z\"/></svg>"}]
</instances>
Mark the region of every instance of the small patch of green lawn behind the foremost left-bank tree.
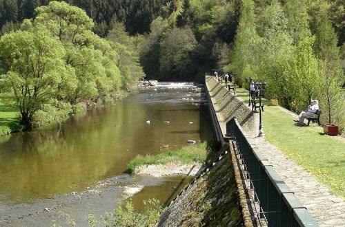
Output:
<instances>
[{"instance_id":1,"label":"small patch of green lawn behind the foremost left-bank tree","mask_svg":"<svg viewBox=\"0 0 345 227\"><path fill-rule=\"evenodd\" d=\"M12 131L20 131L23 127L19 124L17 112L12 107L0 102L0 136Z\"/></svg>"}]
</instances>

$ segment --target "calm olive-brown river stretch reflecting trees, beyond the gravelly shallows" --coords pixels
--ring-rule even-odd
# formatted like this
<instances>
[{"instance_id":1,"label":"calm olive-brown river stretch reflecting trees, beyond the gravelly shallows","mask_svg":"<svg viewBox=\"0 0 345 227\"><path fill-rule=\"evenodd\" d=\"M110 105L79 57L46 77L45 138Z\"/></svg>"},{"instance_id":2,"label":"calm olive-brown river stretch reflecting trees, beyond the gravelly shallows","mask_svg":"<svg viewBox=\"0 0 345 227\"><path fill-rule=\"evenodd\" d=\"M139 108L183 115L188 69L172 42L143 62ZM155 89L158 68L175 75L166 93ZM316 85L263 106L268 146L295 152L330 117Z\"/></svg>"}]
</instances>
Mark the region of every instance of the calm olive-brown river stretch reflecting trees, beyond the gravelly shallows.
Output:
<instances>
[{"instance_id":1,"label":"calm olive-brown river stretch reflecting trees, beyond the gravelly shallows","mask_svg":"<svg viewBox=\"0 0 345 227\"><path fill-rule=\"evenodd\" d=\"M1 138L0 200L19 204L83 190L123 173L135 155L159 153L164 144L173 149L187 140L207 140L207 106L195 105L200 99L188 87L142 90L63 127Z\"/></svg>"}]
</instances>

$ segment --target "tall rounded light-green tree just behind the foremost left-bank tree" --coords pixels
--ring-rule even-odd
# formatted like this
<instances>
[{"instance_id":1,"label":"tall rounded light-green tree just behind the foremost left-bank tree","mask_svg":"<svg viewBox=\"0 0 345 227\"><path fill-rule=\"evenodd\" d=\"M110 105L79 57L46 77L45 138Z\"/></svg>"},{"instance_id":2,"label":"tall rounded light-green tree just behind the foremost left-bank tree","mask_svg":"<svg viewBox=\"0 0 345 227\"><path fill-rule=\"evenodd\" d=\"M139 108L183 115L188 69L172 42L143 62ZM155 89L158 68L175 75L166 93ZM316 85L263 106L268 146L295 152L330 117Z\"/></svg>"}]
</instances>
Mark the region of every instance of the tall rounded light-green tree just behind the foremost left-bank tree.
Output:
<instances>
[{"instance_id":1,"label":"tall rounded light-green tree just behind the foremost left-bank tree","mask_svg":"<svg viewBox=\"0 0 345 227\"><path fill-rule=\"evenodd\" d=\"M22 27L43 26L66 48L63 58L72 70L68 78L70 86L61 87L63 100L76 105L119 92L121 74L116 65L119 55L108 41L91 31L94 23L85 11L65 2L51 1L35 12L37 16L25 21Z\"/></svg>"}]
</instances>

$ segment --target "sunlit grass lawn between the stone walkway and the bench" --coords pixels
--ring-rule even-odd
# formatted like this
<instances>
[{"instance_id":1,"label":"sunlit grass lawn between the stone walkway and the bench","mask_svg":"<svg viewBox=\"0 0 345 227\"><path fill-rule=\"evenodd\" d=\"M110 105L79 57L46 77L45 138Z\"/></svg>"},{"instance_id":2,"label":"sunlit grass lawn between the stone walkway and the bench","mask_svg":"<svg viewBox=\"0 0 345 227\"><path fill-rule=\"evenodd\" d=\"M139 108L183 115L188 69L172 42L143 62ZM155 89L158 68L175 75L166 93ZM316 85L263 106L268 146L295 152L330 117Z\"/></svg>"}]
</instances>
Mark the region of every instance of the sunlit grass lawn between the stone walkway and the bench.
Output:
<instances>
[{"instance_id":1,"label":"sunlit grass lawn between the stone walkway and the bench","mask_svg":"<svg viewBox=\"0 0 345 227\"><path fill-rule=\"evenodd\" d=\"M248 101L248 91L236 89ZM290 114L264 100L263 128L266 139L303 166L336 195L345 197L345 140L325 136L316 123L310 127L293 125ZM288 166L286 166L288 168Z\"/></svg>"}]
</instances>

